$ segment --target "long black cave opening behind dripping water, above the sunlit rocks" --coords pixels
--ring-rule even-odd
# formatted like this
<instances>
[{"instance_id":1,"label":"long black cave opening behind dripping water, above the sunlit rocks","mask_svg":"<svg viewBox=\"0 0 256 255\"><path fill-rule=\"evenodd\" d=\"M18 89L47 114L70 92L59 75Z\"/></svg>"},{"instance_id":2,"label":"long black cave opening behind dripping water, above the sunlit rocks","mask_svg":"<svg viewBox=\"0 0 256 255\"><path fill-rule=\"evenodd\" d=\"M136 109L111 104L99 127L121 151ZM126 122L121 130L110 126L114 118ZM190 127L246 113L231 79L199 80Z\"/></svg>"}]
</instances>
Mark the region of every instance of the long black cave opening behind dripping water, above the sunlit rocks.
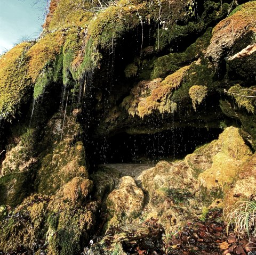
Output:
<instances>
[{"instance_id":1,"label":"long black cave opening behind dripping water, above the sunlit rocks","mask_svg":"<svg viewBox=\"0 0 256 255\"><path fill-rule=\"evenodd\" d=\"M156 163L163 159L182 159L196 146L217 139L221 129L175 128L155 134L119 133L91 141L87 158L93 165L102 163Z\"/></svg>"}]
</instances>

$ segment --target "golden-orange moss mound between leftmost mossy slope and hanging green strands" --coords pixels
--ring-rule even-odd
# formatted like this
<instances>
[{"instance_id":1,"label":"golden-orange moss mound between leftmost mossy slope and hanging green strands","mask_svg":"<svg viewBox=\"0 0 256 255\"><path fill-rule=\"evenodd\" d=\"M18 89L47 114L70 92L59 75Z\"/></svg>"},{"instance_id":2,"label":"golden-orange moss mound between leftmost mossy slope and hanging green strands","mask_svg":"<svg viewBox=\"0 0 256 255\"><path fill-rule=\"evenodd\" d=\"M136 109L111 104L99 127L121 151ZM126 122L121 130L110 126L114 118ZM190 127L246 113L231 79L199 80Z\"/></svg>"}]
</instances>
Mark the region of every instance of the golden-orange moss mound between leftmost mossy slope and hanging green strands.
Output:
<instances>
[{"instance_id":1,"label":"golden-orange moss mound between leftmost mossy slope and hanging green strands","mask_svg":"<svg viewBox=\"0 0 256 255\"><path fill-rule=\"evenodd\" d=\"M45 65L54 60L60 53L61 46L65 42L62 32L54 32L45 35L33 45L27 55L30 57L28 75L35 82Z\"/></svg>"}]
</instances>

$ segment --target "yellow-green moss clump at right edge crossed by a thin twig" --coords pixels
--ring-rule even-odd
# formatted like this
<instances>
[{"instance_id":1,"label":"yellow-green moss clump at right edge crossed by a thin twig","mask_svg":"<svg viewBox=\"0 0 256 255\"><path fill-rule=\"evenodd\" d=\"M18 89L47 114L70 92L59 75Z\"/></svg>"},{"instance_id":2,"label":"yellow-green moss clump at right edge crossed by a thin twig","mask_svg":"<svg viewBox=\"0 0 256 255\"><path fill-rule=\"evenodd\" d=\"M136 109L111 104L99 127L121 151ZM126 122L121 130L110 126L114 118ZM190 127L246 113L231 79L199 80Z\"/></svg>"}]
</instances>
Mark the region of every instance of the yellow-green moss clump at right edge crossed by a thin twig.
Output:
<instances>
[{"instance_id":1,"label":"yellow-green moss clump at right edge crossed by a thin twig","mask_svg":"<svg viewBox=\"0 0 256 255\"><path fill-rule=\"evenodd\" d=\"M251 87L250 89L254 89ZM247 90L246 88L241 87L239 84L229 88L228 92L234 93L230 94L234 97L239 108L244 107L248 112L254 112L254 97L246 97L246 96L255 96L254 91Z\"/></svg>"}]
</instances>

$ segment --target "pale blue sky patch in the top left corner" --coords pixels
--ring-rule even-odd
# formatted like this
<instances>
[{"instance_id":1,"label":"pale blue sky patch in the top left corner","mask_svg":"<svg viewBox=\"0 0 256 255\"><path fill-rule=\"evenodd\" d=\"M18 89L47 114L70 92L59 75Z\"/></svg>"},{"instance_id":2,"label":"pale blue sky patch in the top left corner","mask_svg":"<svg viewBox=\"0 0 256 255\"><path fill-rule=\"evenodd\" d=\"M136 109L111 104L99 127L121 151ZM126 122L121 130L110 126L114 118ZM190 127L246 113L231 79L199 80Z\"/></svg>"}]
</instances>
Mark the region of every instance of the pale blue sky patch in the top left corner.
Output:
<instances>
[{"instance_id":1,"label":"pale blue sky patch in the top left corner","mask_svg":"<svg viewBox=\"0 0 256 255\"><path fill-rule=\"evenodd\" d=\"M40 34L45 6L46 0L0 0L0 54Z\"/></svg>"}]
</instances>

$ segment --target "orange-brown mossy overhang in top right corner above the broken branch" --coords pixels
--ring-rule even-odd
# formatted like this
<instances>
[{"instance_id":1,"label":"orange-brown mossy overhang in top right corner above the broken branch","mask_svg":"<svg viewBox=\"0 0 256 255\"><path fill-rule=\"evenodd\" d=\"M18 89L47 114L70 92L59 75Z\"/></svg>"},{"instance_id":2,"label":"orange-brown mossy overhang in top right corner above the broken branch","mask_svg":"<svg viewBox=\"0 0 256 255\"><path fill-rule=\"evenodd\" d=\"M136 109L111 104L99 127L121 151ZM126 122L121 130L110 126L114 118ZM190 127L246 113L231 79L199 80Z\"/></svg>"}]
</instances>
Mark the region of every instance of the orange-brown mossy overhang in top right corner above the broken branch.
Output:
<instances>
[{"instance_id":1,"label":"orange-brown mossy overhang in top right corner above the broken branch","mask_svg":"<svg viewBox=\"0 0 256 255\"><path fill-rule=\"evenodd\" d=\"M207 55L219 61L221 55L245 34L256 31L256 1L239 5L226 19L220 21L213 29L211 44ZM245 45L247 46L247 45ZM242 50L239 49L239 50Z\"/></svg>"}]
</instances>

